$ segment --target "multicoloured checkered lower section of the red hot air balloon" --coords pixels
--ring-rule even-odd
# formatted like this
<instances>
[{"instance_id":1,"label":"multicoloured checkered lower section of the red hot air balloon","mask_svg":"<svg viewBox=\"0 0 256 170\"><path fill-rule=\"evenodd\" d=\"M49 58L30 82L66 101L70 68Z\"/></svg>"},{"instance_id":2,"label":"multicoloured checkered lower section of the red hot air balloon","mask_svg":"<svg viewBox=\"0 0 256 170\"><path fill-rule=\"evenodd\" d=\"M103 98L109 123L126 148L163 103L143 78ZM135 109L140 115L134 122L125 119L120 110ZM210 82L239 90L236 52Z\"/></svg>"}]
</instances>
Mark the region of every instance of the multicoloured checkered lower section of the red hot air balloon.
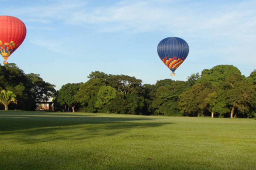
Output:
<instances>
[{"instance_id":1,"label":"multicoloured checkered lower section of the red hot air balloon","mask_svg":"<svg viewBox=\"0 0 256 170\"><path fill-rule=\"evenodd\" d=\"M15 44L13 41L6 43L0 40L0 54L3 56L5 60L7 60L11 53L13 53L19 45Z\"/></svg>"}]
</instances>

